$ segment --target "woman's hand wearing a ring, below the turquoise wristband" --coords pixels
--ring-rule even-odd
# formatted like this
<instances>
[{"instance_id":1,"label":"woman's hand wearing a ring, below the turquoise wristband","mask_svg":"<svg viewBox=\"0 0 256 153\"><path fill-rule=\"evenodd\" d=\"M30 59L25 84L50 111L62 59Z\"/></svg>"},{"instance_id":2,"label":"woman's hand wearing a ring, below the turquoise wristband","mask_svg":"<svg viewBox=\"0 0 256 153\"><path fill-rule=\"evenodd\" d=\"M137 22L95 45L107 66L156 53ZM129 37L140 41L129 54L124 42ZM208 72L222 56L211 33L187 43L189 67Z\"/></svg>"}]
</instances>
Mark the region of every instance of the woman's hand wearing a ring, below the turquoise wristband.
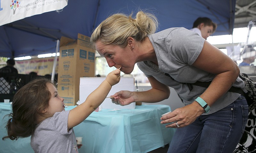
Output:
<instances>
[{"instance_id":1,"label":"woman's hand wearing a ring, below the turquoise wristband","mask_svg":"<svg viewBox=\"0 0 256 153\"><path fill-rule=\"evenodd\" d=\"M162 120L161 124L167 124L165 126L166 128L182 128L194 122L204 112L204 108L198 102L194 101L192 104L177 108L171 113L162 116L160 120Z\"/></svg>"}]
</instances>

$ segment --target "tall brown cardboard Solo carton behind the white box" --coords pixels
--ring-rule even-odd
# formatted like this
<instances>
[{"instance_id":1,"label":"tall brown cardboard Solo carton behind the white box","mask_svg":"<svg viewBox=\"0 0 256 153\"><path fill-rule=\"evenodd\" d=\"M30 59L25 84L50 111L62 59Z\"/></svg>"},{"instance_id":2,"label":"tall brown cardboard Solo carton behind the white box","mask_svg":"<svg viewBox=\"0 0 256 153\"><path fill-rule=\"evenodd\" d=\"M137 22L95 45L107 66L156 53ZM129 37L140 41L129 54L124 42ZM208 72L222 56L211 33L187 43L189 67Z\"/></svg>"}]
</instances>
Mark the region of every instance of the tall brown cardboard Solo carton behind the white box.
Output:
<instances>
[{"instance_id":1,"label":"tall brown cardboard Solo carton behind the white box","mask_svg":"<svg viewBox=\"0 0 256 153\"><path fill-rule=\"evenodd\" d=\"M78 33L77 40L66 37L60 39L58 69L58 94L67 106L76 105L79 100L81 77L94 77L95 51L90 37Z\"/></svg>"}]
</instances>

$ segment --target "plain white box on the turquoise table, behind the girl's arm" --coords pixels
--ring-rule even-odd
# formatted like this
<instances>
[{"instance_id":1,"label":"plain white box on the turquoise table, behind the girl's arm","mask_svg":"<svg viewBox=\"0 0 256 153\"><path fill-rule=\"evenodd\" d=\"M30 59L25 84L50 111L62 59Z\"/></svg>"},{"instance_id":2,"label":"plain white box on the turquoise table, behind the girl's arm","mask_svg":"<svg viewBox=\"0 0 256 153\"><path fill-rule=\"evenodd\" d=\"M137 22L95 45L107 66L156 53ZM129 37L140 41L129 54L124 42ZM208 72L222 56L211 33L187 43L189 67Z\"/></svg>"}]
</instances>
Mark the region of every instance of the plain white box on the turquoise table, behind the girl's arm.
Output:
<instances>
[{"instance_id":1,"label":"plain white box on the turquoise table, behind the girl's arm","mask_svg":"<svg viewBox=\"0 0 256 153\"><path fill-rule=\"evenodd\" d=\"M83 103L89 94L92 93L101 82L105 80L105 77L93 77L93 78L80 78L80 90L79 90L79 101L80 103ZM134 86L134 78L133 77L121 77L120 81L114 85L108 96L115 94L118 91L121 90L128 90L128 91L135 91ZM120 106L112 103L110 98L106 98L102 104L100 105L102 109L134 109L135 108L135 102L126 105L126 106Z\"/></svg>"}]
</instances>

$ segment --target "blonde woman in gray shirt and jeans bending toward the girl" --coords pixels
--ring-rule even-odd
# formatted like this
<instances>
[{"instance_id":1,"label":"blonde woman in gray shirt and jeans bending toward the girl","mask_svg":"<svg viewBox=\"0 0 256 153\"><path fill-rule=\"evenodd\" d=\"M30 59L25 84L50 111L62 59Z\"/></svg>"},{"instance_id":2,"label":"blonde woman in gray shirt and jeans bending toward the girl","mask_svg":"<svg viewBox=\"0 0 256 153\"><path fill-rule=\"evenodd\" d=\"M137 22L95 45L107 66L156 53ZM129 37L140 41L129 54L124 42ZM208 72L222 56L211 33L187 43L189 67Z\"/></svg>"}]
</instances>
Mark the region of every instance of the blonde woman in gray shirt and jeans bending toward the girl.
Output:
<instances>
[{"instance_id":1,"label":"blonde woman in gray shirt and jeans bending toward the girl","mask_svg":"<svg viewBox=\"0 0 256 153\"><path fill-rule=\"evenodd\" d=\"M152 87L119 91L112 102L159 102L172 87L185 106L160 118L166 128L176 128L168 153L232 153L248 118L245 97L227 92L231 86L245 91L238 66L195 32L176 27L155 33L157 25L153 14L139 11L136 18L114 14L92 32L91 42L109 67L130 74L137 63ZM192 84L197 81L211 84Z\"/></svg>"}]
</instances>

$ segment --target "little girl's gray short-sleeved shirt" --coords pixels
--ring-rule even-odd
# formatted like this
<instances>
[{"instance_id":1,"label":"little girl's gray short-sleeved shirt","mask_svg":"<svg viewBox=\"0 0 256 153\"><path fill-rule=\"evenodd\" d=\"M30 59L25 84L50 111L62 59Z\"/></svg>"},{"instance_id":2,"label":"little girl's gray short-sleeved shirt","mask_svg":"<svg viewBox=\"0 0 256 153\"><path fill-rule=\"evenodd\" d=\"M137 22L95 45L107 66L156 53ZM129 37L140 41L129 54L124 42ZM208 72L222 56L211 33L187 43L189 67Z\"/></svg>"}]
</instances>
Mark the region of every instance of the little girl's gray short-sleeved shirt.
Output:
<instances>
[{"instance_id":1,"label":"little girl's gray short-sleeved shirt","mask_svg":"<svg viewBox=\"0 0 256 153\"><path fill-rule=\"evenodd\" d=\"M74 130L68 130L69 111L56 112L37 125L30 141L36 153L78 153Z\"/></svg>"}]
</instances>

